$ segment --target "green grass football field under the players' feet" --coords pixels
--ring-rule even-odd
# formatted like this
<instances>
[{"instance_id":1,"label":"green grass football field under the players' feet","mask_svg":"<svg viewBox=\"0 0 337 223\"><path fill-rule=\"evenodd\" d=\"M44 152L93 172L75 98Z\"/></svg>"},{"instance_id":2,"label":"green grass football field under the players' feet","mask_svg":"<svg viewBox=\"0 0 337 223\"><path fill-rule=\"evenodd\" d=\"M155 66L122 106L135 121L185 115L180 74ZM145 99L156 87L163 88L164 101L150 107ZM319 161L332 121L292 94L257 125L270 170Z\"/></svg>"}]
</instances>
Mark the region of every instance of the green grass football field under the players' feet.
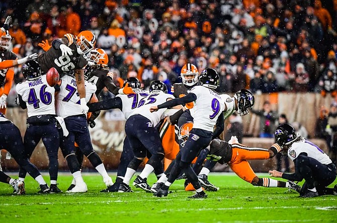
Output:
<instances>
[{"instance_id":1,"label":"green grass football field under the players' feet","mask_svg":"<svg viewBox=\"0 0 337 223\"><path fill-rule=\"evenodd\" d=\"M59 188L65 191L71 179L59 176ZM134 193L100 193L105 185L99 175L83 179L89 189L83 194L38 195L31 177L23 196L1 184L0 222L337 222L337 196L299 198L284 188L253 187L234 175L210 175L220 191L207 192L204 200L187 199L193 192L183 190L182 180L171 187L174 193L157 198L134 187Z\"/></svg>"}]
</instances>

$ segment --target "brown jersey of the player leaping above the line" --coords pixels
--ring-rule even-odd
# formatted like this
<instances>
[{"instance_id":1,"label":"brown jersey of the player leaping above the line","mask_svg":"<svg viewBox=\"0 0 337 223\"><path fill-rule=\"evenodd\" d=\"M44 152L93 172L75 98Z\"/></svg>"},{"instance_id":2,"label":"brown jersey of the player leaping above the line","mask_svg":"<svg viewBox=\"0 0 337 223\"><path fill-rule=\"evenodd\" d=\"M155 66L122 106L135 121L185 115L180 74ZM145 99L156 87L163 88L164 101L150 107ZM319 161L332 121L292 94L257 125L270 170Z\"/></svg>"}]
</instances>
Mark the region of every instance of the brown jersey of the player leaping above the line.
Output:
<instances>
[{"instance_id":1,"label":"brown jersey of the player leaping above the line","mask_svg":"<svg viewBox=\"0 0 337 223\"><path fill-rule=\"evenodd\" d=\"M88 64L83 54L77 53L75 36L65 34L62 42L72 49L72 55L63 56L60 49L57 50L51 47L36 59L40 63L42 72L47 72L51 67L55 67L59 74L62 75L72 70L82 69Z\"/></svg>"}]
</instances>

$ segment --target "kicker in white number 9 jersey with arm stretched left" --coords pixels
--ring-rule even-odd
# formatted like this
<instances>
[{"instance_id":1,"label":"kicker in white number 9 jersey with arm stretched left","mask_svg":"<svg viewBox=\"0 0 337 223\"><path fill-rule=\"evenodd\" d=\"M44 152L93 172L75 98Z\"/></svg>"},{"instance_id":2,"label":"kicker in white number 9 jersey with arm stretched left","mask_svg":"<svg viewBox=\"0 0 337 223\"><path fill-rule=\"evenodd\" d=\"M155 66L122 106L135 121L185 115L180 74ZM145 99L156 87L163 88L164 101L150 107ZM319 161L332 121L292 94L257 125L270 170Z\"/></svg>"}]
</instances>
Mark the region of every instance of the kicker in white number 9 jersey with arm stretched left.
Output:
<instances>
[{"instance_id":1,"label":"kicker in white number 9 jersey with arm stretched left","mask_svg":"<svg viewBox=\"0 0 337 223\"><path fill-rule=\"evenodd\" d=\"M207 68L201 73L199 85L193 87L190 93L182 98L167 101L158 106L152 106L151 112L162 108L193 102L194 106L191 115L194 120L194 128L188 140L177 155L176 162L172 168L171 174L165 184L154 193L155 196L167 196L168 188L177 179L183 171L188 180L192 183L197 193L191 198L206 198L207 194L202 190L196 173L192 170L190 164L195 159L200 150L206 148L213 136L213 129L216 123L224 126L223 110L225 103L220 95L212 89L216 89L219 83L219 75L216 70ZM221 132L220 132L221 133ZM214 135L218 136L218 135Z\"/></svg>"}]
</instances>

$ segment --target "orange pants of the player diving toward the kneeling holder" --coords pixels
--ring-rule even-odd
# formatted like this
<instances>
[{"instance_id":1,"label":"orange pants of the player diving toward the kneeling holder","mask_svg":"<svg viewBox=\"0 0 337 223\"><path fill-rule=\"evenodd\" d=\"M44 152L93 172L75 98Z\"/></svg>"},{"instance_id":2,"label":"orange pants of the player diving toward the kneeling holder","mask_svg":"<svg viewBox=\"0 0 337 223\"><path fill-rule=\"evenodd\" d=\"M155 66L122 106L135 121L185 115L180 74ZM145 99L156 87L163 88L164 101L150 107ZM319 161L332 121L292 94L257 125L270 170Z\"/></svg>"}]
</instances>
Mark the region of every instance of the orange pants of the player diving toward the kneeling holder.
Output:
<instances>
[{"instance_id":1,"label":"orange pants of the player diving toward the kneeling holder","mask_svg":"<svg viewBox=\"0 0 337 223\"><path fill-rule=\"evenodd\" d=\"M242 144L232 144L232 158L228 163L230 169L242 180L249 183L256 177L247 160L267 160L269 151L264 148L248 147Z\"/></svg>"}]
</instances>

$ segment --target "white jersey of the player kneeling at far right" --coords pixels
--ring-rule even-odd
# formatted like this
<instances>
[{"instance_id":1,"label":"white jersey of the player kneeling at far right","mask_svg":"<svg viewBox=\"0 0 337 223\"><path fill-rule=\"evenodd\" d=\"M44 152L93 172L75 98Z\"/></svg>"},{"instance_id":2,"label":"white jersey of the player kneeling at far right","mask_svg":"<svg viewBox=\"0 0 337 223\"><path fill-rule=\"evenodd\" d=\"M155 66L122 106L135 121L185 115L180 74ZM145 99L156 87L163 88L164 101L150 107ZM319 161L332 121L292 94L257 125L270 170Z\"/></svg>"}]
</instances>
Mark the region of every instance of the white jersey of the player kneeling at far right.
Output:
<instances>
[{"instance_id":1,"label":"white jersey of the player kneeling at far right","mask_svg":"<svg viewBox=\"0 0 337 223\"><path fill-rule=\"evenodd\" d=\"M308 141L307 139L303 138L298 142L294 142L289 150L288 150L288 157L294 161L298 155L301 153L308 154L308 157L311 157L321 164L330 164L332 161L330 158L314 143Z\"/></svg>"}]
</instances>

